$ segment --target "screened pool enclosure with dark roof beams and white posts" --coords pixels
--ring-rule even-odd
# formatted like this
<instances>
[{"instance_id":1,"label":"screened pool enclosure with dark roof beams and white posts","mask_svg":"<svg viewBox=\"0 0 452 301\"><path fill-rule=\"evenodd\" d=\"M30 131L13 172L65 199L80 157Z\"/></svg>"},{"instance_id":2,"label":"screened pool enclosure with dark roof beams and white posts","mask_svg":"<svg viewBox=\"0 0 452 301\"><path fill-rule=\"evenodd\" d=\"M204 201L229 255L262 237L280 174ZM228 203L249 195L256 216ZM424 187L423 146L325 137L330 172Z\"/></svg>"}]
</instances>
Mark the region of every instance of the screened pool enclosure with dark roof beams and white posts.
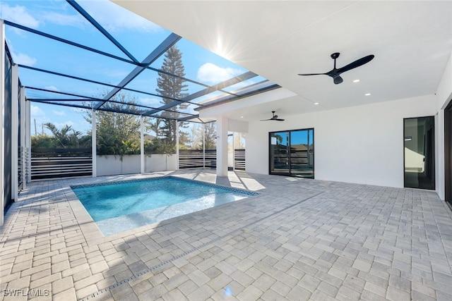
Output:
<instances>
[{"instance_id":1,"label":"screened pool enclosure with dark roof beams and white posts","mask_svg":"<svg viewBox=\"0 0 452 301\"><path fill-rule=\"evenodd\" d=\"M0 5L2 221L30 180L215 168L199 111L279 87L109 1Z\"/></svg>"}]
</instances>

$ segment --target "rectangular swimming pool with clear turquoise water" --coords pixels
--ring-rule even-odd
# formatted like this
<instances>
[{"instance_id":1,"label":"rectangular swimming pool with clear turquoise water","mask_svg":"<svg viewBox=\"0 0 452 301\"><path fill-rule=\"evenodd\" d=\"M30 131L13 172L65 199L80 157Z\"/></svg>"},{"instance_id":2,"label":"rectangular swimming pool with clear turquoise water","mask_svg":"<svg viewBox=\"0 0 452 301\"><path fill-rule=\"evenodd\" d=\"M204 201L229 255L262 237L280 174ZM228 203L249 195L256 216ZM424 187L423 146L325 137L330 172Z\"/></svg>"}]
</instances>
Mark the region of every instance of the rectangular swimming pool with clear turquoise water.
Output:
<instances>
[{"instance_id":1,"label":"rectangular swimming pool with clear turquoise water","mask_svg":"<svg viewBox=\"0 0 452 301\"><path fill-rule=\"evenodd\" d=\"M104 235L257 195L172 176L71 188Z\"/></svg>"}]
</instances>

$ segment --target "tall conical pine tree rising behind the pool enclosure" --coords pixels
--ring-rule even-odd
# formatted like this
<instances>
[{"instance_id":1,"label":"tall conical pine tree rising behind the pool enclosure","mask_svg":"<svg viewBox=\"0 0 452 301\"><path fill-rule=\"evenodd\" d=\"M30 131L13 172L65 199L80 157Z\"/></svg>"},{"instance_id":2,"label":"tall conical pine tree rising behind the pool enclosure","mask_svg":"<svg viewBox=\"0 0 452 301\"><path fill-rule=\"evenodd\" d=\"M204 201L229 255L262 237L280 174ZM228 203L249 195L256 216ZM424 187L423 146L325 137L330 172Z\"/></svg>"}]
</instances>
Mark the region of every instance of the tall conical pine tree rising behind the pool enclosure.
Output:
<instances>
[{"instance_id":1,"label":"tall conical pine tree rising behind the pool enclosure","mask_svg":"<svg viewBox=\"0 0 452 301\"><path fill-rule=\"evenodd\" d=\"M167 50L165 53L165 59L162 63L162 71L158 73L157 78L157 89L155 91L162 95L162 104L171 104L174 99L182 99L188 95L188 85L184 84L185 80L182 78L185 76L185 68L182 63L182 53L177 48L173 46ZM176 76L168 75L171 73ZM179 104L179 109L186 109L188 104ZM168 118L163 119L163 125L160 128L164 140L164 145L175 148L176 146L176 119L179 117L179 113L175 111L174 107L168 109ZM183 127L186 124L179 124Z\"/></svg>"}]
</instances>

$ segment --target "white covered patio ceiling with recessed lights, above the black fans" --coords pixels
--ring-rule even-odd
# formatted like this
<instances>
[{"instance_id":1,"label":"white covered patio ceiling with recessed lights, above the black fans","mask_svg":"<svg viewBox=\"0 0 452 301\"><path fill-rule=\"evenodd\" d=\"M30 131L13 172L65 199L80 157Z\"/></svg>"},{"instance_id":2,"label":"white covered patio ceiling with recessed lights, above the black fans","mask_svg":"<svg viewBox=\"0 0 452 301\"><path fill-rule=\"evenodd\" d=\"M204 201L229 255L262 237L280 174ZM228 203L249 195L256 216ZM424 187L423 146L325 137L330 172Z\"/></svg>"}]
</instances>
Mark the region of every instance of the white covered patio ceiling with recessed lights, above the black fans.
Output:
<instances>
[{"instance_id":1,"label":"white covered patio ceiling with recessed lights, above the black fans","mask_svg":"<svg viewBox=\"0 0 452 301\"><path fill-rule=\"evenodd\" d=\"M452 1L112 1L282 87L201 116L256 121L433 95L451 58ZM338 68L375 58L340 85L297 75L328 72L335 52Z\"/></svg>"}]
</instances>

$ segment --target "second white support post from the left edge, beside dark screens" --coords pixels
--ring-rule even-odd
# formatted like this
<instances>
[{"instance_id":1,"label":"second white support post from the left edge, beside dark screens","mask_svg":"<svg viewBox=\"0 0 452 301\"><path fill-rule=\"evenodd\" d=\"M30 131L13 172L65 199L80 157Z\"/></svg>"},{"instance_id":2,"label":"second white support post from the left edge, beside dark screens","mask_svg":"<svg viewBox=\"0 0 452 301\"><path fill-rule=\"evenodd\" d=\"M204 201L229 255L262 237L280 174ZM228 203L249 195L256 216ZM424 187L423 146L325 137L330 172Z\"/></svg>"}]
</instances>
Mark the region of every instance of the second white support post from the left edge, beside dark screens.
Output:
<instances>
[{"instance_id":1,"label":"second white support post from the left edge, beside dark screens","mask_svg":"<svg viewBox=\"0 0 452 301\"><path fill-rule=\"evenodd\" d=\"M11 199L16 202L18 199L18 162L19 162L19 73L18 66L11 66Z\"/></svg>"}]
</instances>

